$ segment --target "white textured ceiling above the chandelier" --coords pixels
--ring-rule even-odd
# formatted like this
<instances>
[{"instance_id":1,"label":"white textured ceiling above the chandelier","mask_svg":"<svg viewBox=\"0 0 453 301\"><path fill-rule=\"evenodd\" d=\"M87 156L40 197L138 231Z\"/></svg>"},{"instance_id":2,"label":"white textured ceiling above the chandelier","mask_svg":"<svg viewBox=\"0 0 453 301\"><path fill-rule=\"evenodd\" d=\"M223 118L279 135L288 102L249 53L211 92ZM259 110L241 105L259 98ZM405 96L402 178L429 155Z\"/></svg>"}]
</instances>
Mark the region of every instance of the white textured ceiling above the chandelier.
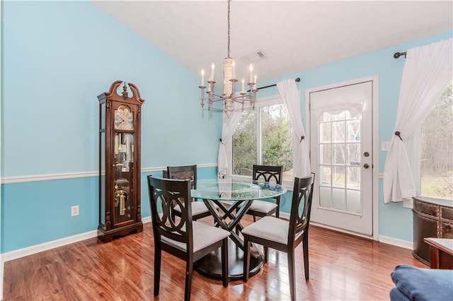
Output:
<instances>
[{"instance_id":1,"label":"white textured ceiling above the chandelier","mask_svg":"<svg viewBox=\"0 0 453 301\"><path fill-rule=\"evenodd\" d=\"M226 0L93 3L196 73L226 57ZM453 1L231 1L236 75L260 51L258 81L449 30Z\"/></svg>"}]
</instances>

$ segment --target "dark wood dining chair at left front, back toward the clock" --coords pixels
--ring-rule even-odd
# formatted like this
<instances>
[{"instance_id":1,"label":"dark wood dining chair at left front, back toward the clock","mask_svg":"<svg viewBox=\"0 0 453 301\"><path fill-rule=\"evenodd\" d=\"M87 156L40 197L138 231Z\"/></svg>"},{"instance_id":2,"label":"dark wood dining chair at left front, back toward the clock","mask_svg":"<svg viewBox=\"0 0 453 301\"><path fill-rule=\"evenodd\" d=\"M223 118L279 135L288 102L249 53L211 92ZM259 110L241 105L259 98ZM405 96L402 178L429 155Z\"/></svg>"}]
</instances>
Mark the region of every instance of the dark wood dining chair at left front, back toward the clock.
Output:
<instances>
[{"instance_id":1,"label":"dark wood dining chair at left front, back toward the clock","mask_svg":"<svg viewBox=\"0 0 453 301\"><path fill-rule=\"evenodd\" d=\"M228 286L228 237L230 233L205 223L193 221L190 181L159 179L148 176L149 202L154 233L154 296L159 295L162 251L186 262L184 300L190 300L193 263L221 248L222 284ZM171 214L173 206L180 208L180 217Z\"/></svg>"}]
</instances>

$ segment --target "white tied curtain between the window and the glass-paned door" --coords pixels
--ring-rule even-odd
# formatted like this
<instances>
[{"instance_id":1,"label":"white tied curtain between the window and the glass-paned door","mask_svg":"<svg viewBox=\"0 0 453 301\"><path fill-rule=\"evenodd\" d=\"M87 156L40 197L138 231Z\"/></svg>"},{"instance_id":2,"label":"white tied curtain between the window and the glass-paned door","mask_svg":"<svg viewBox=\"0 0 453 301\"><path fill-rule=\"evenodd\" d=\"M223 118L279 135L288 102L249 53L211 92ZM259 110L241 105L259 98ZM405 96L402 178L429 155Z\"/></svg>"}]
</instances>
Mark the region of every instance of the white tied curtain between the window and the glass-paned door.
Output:
<instances>
[{"instance_id":1,"label":"white tied curtain between the window and the glass-paned door","mask_svg":"<svg viewBox=\"0 0 453 301\"><path fill-rule=\"evenodd\" d=\"M302 124L299 91L294 79L277 83L277 88L286 106L289 122L292 124L292 175L306 177L311 173L309 138L306 136L304 124Z\"/></svg>"}]
</instances>

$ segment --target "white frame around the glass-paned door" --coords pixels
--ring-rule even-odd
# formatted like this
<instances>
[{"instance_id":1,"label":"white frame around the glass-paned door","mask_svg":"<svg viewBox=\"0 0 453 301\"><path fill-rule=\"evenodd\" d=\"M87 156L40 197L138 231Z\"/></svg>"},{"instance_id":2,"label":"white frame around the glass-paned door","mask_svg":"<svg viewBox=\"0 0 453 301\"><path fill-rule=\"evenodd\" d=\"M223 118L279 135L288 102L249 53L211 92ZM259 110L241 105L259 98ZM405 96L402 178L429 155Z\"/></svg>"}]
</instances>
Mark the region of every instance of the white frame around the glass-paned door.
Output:
<instances>
[{"instance_id":1,"label":"white frame around the glass-paned door","mask_svg":"<svg viewBox=\"0 0 453 301\"><path fill-rule=\"evenodd\" d=\"M372 238L373 240L379 240L379 76L367 76L364 78L357 78L350 81L343 81L339 83L331 83L329 85L322 85L319 87L309 88L305 90L305 124L306 124L306 133L311 135L311 119L310 119L310 93L329 90L333 88L340 88L344 85L355 85L357 83L363 83L365 81L372 82L372 152L373 152L373 169L372 169L372 237L368 235L362 235L356 232L351 232L348 230L338 229L329 227L327 225L319 225L317 223L312 223L323 228L330 228L340 232L346 232L352 235ZM311 144L310 144L310 159L311 159ZM311 165L313 167L313 165ZM315 189L318 189L318 183L315 181ZM319 196L318 196L319 197Z\"/></svg>"}]
</instances>

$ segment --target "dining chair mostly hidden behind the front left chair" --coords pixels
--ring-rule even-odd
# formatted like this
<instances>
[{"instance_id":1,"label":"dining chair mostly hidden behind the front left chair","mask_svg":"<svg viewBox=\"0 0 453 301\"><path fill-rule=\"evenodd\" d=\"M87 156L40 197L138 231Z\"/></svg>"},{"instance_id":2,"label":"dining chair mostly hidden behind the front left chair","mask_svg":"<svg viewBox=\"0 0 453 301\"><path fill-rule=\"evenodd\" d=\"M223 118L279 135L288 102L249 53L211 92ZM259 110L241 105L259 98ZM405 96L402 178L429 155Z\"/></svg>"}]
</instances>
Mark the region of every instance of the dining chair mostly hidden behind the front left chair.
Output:
<instances>
[{"instance_id":1,"label":"dining chair mostly hidden behind the front left chair","mask_svg":"<svg viewBox=\"0 0 453 301\"><path fill-rule=\"evenodd\" d=\"M190 179L191 188L197 188L197 165L167 166L167 172L163 173L163 175L167 175L168 179ZM200 218L211 216L205 202L197 201L196 199L190 200L193 220L199 220ZM173 214L176 216L181 215L178 207L174 208Z\"/></svg>"}]
</instances>

